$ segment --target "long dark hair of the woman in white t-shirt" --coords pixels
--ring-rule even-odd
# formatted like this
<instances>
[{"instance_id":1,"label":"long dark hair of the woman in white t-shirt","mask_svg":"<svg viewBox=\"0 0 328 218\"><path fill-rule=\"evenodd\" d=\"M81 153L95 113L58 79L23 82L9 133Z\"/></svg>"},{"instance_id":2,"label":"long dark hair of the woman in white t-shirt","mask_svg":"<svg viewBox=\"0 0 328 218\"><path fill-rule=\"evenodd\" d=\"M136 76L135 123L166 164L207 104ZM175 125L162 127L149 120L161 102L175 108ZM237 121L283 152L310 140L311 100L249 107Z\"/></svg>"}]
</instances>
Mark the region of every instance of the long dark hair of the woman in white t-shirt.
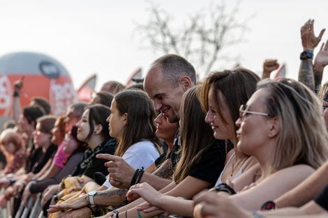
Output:
<instances>
[{"instance_id":1,"label":"long dark hair of the woman in white t-shirt","mask_svg":"<svg viewBox=\"0 0 328 218\"><path fill-rule=\"evenodd\" d=\"M134 143L149 140L159 145L154 119L153 102L144 91L125 90L114 96L120 114L127 113L127 123L121 140L118 140L115 155L122 156Z\"/></svg>"}]
</instances>

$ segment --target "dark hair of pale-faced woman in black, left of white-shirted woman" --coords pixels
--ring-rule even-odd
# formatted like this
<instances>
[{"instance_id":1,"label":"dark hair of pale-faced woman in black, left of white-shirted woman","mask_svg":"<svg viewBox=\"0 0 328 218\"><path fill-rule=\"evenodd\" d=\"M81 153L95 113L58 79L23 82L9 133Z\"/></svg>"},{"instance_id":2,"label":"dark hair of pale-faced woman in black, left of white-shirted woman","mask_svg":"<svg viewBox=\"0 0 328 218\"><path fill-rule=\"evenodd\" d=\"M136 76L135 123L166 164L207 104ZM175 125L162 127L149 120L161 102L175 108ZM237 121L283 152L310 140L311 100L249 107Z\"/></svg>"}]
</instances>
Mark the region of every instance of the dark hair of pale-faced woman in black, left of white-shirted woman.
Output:
<instances>
[{"instance_id":1,"label":"dark hair of pale-faced woman in black, left of white-shirted woman","mask_svg":"<svg viewBox=\"0 0 328 218\"><path fill-rule=\"evenodd\" d=\"M100 132L103 141L108 141L110 139L110 132L108 130L108 123L106 118L110 116L110 108L103 104L95 104L86 108L89 109L89 125L90 132L87 136L87 140L91 138L91 135L94 133L94 125L102 125L103 128Z\"/></svg>"}]
</instances>

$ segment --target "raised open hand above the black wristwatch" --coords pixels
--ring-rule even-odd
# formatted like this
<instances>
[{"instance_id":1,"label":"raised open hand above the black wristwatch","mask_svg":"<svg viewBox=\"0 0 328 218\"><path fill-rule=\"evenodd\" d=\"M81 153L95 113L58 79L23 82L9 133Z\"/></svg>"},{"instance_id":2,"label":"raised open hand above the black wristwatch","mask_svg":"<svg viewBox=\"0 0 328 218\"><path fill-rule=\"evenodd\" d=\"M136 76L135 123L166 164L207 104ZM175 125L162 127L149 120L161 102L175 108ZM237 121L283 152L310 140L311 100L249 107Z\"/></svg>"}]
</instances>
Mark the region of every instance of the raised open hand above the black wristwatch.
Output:
<instances>
[{"instance_id":1,"label":"raised open hand above the black wristwatch","mask_svg":"<svg viewBox=\"0 0 328 218\"><path fill-rule=\"evenodd\" d=\"M314 20L308 20L303 26L301 26L301 45L303 49L313 51L315 47L319 44L323 33L326 29L322 29L319 36L316 37L313 30Z\"/></svg>"}]
</instances>

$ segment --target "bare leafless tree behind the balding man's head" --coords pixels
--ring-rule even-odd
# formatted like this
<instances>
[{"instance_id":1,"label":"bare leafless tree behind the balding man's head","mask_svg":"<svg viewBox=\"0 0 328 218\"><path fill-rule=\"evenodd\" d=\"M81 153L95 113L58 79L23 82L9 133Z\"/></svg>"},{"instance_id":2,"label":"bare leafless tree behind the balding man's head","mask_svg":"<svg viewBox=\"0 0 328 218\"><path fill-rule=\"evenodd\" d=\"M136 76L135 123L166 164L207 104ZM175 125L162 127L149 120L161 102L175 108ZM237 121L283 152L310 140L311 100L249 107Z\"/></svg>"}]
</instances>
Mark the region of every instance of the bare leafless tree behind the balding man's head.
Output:
<instances>
[{"instance_id":1,"label":"bare leafless tree behind the balding man's head","mask_svg":"<svg viewBox=\"0 0 328 218\"><path fill-rule=\"evenodd\" d=\"M172 15L163 8L151 1L149 5L148 22L136 27L142 41L147 42L147 47L154 52L184 56L205 74L212 70L217 61L231 59L220 53L244 40L246 23L251 18L238 22L236 15L240 2L228 10L222 0L211 4L207 13L202 10L194 13L185 24L177 26Z\"/></svg>"}]
</instances>

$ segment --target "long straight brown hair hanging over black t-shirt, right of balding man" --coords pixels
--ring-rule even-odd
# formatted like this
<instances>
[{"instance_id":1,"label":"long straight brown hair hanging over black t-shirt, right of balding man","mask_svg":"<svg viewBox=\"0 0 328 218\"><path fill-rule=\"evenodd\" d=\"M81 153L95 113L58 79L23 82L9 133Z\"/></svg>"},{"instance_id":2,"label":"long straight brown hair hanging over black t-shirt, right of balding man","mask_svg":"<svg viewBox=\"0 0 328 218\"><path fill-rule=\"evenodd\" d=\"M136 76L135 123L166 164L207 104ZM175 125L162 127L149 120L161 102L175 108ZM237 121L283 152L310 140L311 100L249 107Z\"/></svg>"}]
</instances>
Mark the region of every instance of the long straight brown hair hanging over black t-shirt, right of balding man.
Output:
<instances>
[{"instance_id":1,"label":"long straight brown hair hanging over black t-shirt, right of balding man","mask_svg":"<svg viewBox=\"0 0 328 218\"><path fill-rule=\"evenodd\" d=\"M206 113L202 110L196 86L184 93L181 104L180 139L181 158L174 172L174 181L181 182L188 176L191 167L200 160L204 151L214 143L211 127L205 123Z\"/></svg>"}]
</instances>

